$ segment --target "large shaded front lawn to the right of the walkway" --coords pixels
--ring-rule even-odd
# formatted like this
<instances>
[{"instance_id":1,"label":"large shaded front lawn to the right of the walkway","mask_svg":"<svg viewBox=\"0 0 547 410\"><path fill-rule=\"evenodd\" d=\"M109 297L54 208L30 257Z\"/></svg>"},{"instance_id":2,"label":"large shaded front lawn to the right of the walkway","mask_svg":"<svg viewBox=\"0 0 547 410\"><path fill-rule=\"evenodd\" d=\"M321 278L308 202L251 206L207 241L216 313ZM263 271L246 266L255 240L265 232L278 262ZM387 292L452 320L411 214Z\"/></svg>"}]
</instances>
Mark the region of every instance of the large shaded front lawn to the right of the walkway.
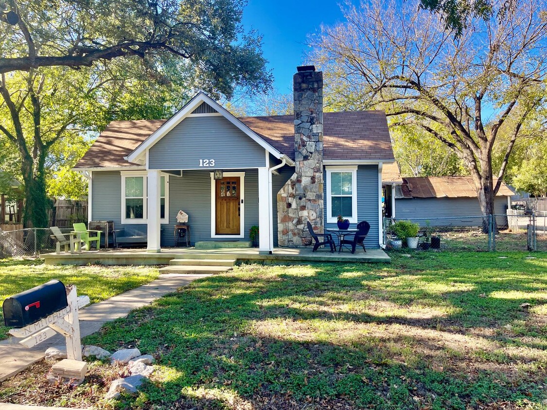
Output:
<instances>
[{"instance_id":1,"label":"large shaded front lawn to the right of the walkway","mask_svg":"<svg viewBox=\"0 0 547 410\"><path fill-rule=\"evenodd\" d=\"M528 255L247 265L197 280L85 343L159 359L143 393L121 407L545 408L547 253ZM93 385L49 404L107 408L102 374L104 365L90 364ZM0 400L33 402L42 382L20 391L18 377Z\"/></svg>"}]
</instances>

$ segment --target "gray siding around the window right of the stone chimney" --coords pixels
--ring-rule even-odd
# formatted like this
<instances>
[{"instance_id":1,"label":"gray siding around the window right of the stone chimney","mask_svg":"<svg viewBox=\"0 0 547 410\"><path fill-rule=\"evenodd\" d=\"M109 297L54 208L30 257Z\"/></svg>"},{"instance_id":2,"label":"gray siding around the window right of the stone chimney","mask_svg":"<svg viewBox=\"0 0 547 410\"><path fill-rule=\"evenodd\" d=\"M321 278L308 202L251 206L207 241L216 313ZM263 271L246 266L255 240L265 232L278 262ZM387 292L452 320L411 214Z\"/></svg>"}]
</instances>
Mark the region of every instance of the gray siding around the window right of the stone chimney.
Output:
<instances>
[{"instance_id":1,"label":"gray siding around the window right of the stone chimney","mask_svg":"<svg viewBox=\"0 0 547 410\"><path fill-rule=\"evenodd\" d=\"M324 195L325 195L325 228L338 229L336 222L327 222L327 171L325 175ZM359 165L357 168L357 220L368 221L370 224L369 234L365 239L367 248L379 248L379 223L378 223L378 166L377 165ZM357 224L351 224L350 229L355 229ZM336 236L334 236L336 240Z\"/></svg>"}]
</instances>

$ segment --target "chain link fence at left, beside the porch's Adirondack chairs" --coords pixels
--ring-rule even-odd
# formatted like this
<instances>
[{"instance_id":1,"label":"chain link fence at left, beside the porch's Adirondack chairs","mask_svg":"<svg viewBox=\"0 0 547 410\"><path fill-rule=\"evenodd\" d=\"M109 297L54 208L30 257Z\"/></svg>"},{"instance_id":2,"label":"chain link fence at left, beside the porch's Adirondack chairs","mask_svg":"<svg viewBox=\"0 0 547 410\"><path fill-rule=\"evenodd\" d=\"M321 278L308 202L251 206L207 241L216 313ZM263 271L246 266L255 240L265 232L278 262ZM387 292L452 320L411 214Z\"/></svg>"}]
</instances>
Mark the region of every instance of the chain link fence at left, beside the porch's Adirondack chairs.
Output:
<instances>
[{"instance_id":1,"label":"chain link fence at left, beside the porch's Adirondack chairs","mask_svg":"<svg viewBox=\"0 0 547 410\"><path fill-rule=\"evenodd\" d=\"M61 229L69 233L72 228ZM56 239L49 228L28 228L15 231L0 230L0 257L39 256L55 252Z\"/></svg>"}]
</instances>

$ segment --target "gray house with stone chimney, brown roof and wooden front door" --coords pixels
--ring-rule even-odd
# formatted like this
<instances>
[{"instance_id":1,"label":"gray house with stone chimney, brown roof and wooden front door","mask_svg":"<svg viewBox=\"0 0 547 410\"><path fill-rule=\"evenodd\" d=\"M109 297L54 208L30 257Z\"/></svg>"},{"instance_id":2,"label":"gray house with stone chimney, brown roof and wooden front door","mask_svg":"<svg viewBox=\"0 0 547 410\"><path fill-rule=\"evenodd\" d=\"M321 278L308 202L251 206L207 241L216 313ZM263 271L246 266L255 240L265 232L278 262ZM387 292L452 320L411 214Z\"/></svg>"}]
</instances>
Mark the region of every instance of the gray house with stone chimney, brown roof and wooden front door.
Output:
<instances>
[{"instance_id":1,"label":"gray house with stone chimney, brown roof and wooden front door","mask_svg":"<svg viewBox=\"0 0 547 410\"><path fill-rule=\"evenodd\" d=\"M236 118L200 92L168 120L112 121L75 167L89 179L89 220L174 245L176 215L191 242L248 241L259 251L311 243L306 231L369 221L382 242L382 167L394 162L385 113L323 113L323 73L294 74L294 115Z\"/></svg>"}]
</instances>

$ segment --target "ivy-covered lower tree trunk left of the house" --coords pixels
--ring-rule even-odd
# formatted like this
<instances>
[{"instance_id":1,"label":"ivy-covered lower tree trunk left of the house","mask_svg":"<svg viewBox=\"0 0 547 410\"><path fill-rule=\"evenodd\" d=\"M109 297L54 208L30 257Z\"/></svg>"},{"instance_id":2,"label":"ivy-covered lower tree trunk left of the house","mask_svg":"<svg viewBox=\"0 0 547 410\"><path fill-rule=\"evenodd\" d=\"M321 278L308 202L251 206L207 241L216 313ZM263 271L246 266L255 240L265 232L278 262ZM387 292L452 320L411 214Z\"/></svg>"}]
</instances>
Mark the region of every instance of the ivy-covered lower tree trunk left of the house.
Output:
<instances>
[{"instance_id":1,"label":"ivy-covered lower tree trunk left of the house","mask_svg":"<svg viewBox=\"0 0 547 410\"><path fill-rule=\"evenodd\" d=\"M25 181L25 207L23 221L25 228L48 227L48 197L45 192L44 164L38 161L36 171L28 160L23 161L21 171Z\"/></svg>"}]
</instances>

